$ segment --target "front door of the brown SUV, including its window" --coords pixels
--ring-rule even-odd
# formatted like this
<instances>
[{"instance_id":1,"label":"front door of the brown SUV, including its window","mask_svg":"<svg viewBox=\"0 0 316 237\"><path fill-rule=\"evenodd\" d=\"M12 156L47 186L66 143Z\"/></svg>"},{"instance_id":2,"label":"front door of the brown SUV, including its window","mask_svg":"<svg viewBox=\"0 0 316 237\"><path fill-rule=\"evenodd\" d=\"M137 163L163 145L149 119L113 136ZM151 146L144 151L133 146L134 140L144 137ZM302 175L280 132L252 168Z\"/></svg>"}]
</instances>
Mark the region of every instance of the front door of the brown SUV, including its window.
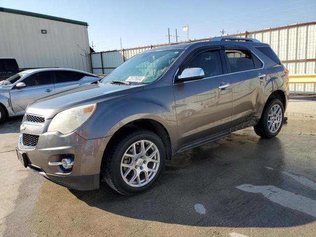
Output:
<instances>
[{"instance_id":1,"label":"front door of the brown SUV, including its window","mask_svg":"<svg viewBox=\"0 0 316 237\"><path fill-rule=\"evenodd\" d=\"M179 147L228 132L231 128L232 89L230 86L219 88L231 83L231 77L223 75L224 67L219 72L218 65L222 65L220 51L212 51L214 54L210 55L207 52L198 54L187 66L202 68L207 78L173 85Z\"/></svg>"}]
</instances>

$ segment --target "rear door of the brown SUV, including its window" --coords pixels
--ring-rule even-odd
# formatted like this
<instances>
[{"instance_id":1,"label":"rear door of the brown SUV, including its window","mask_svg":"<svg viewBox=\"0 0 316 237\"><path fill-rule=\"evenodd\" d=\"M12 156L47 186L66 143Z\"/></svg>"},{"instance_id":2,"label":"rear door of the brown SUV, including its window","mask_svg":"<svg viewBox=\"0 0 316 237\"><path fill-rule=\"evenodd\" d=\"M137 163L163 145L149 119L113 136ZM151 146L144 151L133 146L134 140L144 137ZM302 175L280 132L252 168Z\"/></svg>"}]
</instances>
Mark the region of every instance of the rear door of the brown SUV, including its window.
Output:
<instances>
[{"instance_id":1,"label":"rear door of the brown SUV, including its window","mask_svg":"<svg viewBox=\"0 0 316 237\"><path fill-rule=\"evenodd\" d=\"M255 118L264 103L263 90L266 77L263 63L249 50L240 46L225 46L225 58L232 77L232 126Z\"/></svg>"}]
</instances>

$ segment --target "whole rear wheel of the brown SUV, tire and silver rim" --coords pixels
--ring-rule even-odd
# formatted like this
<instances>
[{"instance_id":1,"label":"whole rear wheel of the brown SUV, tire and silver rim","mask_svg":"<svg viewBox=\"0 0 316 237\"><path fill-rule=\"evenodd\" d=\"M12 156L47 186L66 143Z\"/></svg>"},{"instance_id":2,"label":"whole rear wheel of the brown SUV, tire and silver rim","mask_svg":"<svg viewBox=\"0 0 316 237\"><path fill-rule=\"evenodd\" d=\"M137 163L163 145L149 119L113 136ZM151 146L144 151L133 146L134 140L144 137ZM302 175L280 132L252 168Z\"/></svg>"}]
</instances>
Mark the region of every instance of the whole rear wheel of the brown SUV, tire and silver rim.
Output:
<instances>
[{"instance_id":1,"label":"whole rear wheel of the brown SUV, tire and silver rim","mask_svg":"<svg viewBox=\"0 0 316 237\"><path fill-rule=\"evenodd\" d=\"M259 123L253 128L258 136L272 138L280 132L283 119L283 105L279 99L273 99L265 107Z\"/></svg>"}]
</instances>

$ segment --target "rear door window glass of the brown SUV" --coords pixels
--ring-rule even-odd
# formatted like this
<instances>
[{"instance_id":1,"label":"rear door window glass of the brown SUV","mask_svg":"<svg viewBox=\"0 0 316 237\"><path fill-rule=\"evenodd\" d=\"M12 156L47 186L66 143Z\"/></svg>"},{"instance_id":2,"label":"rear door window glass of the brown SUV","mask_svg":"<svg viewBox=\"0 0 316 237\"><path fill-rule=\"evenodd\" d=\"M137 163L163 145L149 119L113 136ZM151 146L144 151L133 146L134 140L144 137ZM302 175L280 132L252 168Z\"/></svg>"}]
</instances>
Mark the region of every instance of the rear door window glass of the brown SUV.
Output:
<instances>
[{"instance_id":1,"label":"rear door window glass of the brown SUV","mask_svg":"<svg viewBox=\"0 0 316 237\"><path fill-rule=\"evenodd\" d=\"M250 52L246 50L235 49L226 49L225 52L232 73L255 69Z\"/></svg>"}]
</instances>

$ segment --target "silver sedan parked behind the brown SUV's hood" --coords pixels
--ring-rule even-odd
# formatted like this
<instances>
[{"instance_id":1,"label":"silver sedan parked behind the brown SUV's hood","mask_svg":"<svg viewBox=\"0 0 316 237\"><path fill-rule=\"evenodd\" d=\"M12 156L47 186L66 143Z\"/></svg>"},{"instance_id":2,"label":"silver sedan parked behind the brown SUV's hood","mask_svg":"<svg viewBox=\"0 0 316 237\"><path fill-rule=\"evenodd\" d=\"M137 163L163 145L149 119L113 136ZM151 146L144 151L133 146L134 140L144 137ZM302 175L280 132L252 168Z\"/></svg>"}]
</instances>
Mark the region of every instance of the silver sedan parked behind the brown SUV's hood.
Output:
<instances>
[{"instance_id":1,"label":"silver sedan parked behind the brown SUV's hood","mask_svg":"<svg viewBox=\"0 0 316 237\"><path fill-rule=\"evenodd\" d=\"M0 123L5 118L23 115L31 102L65 89L100 80L79 70L47 68L20 72L0 81Z\"/></svg>"}]
</instances>

